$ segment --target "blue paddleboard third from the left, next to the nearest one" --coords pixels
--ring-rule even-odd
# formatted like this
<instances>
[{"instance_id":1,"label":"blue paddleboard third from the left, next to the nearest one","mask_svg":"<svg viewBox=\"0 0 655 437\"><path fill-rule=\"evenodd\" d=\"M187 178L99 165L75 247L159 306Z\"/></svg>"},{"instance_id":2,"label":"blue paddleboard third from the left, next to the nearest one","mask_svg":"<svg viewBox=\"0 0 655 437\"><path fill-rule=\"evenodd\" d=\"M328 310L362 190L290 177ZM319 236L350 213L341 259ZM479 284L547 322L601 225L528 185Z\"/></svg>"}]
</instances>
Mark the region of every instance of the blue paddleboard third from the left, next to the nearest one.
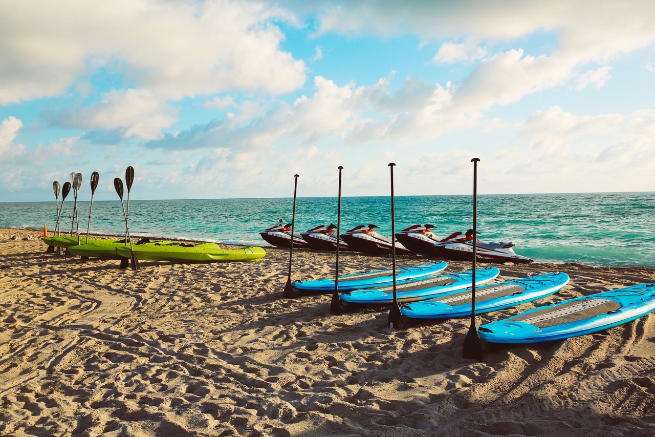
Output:
<instances>
[{"instance_id":1,"label":"blue paddleboard third from the left, next to the nearest one","mask_svg":"<svg viewBox=\"0 0 655 437\"><path fill-rule=\"evenodd\" d=\"M568 282L569 275L557 272L476 287L476 314L542 299L557 293ZM417 319L468 317L471 315L471 288L405 304L400 311L403 316Z\"/></svg>"}]
</instances>

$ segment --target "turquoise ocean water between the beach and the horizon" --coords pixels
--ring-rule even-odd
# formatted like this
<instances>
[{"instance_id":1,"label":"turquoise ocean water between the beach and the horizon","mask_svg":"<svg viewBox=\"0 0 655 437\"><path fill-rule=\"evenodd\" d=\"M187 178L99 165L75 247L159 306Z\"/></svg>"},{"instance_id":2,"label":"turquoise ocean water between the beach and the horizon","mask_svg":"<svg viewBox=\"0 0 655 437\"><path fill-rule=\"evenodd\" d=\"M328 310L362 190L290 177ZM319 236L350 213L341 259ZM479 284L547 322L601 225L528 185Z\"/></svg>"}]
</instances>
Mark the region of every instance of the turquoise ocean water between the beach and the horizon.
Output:
<instances>
[{"instance_id":1,"label":"turquoise ocean water between the beach and the horizon","mask_svg":"<svg viewBox=\"0 0 655 437\"><path fill-rule=\"evenodd\" d=\"M130 230L143 236L205 239L265 245L258 232L291 221L290 198L143 200L130 202ZM471 196L398 196L396 229L431 223L445 237L466 230ZM80 230L86 230L88 202L79 202ZM66 201L63 228L70 230L73 202ZM336 221L336 198L299 198L296 230ZM655 192L505 194L479 196L481 239L512 241L515 251L538 261L605 266L655 266ZM52 202L0 203L0 226L52 230ZM341 228L373 223L390 235L388 197L343 198ZM119 201L95 201L91 230L121 234Z\"/></svg>"}]
</instances>

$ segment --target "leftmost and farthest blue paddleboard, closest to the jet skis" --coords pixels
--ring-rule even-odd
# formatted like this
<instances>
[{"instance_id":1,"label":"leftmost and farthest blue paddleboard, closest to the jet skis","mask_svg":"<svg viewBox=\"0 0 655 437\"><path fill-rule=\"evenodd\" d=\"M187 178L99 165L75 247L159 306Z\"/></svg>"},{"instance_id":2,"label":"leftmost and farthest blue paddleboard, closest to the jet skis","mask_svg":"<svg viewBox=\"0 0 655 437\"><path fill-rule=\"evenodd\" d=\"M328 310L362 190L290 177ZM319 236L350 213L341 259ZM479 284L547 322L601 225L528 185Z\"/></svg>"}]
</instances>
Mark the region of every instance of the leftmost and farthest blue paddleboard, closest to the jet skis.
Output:
<instances>
[{"instance_id":1,"label":"leftmost and farthest blue paddleboard, closest to the jet skis","mask_svg":"<svg viewBox=\"0 0 655 437\"><path fill-rule=\"evenodd\" d=\"M430 262L421 266L396 269L396 283L409 283L424 280L443 272L446 262ZM354 273L339 276L339 290L358 290L371 287L385 287L394 281L392 270L375 270L373 272ZM332 291L334 280L294 281L293 287L302 291Z\"/></svg>"}]
</instances>

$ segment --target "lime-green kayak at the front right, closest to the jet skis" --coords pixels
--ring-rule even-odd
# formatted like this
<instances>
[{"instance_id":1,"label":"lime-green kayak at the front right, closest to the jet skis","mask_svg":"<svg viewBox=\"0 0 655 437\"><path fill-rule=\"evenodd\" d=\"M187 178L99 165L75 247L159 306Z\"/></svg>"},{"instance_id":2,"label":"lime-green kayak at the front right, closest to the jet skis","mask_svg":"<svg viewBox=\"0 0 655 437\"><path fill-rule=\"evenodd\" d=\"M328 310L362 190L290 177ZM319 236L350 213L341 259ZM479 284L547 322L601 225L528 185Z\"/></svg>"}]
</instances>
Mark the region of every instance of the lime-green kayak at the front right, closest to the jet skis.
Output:
<instances>
[{"instance_id":1,"label":"lime-green kayak at the front right, closest to the jet skis","mask_svg":"<svg viewBox=\"0 0 655 437\"><path fill-rule=\"evenodd\" d=\"M119 247L117 253L124 258L131 258L130 246ZM221 249L216 243L199 243L186 245L162 242L134 245L134 255L139 260L172 262L217 262L217 261L257 261L265 257L261 247L244 247L244 249Z\"/></svg>"}]
</instances>

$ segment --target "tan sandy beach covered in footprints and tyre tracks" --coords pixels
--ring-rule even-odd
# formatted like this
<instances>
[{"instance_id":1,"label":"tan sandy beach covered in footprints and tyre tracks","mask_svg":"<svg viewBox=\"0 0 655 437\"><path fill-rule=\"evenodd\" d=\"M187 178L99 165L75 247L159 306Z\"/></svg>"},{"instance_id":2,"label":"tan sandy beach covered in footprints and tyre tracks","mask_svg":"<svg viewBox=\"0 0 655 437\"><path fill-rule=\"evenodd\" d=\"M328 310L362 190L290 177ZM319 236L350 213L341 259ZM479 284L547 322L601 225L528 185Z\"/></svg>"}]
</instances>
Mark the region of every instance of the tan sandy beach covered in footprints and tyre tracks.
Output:
<instances>
[{"instance_id":1,"label":"tan sandy beach covered in footprints and tyre tracks","mask_svg":"<svg viewBox=\"0 0 655 437\"><path fill-rule=\"evenodd\" d=\"M11 234L29 241L10 241ZM652 435L652 314L594 335L462 360L468 320L386 329L386 310L279 299L288 252L261 262L117 262L45 253L0 229L2 435ZM343 273L390 268L344 253ZM419 264L403 257L400 266ZM452 262L449 270L468 268ZM565 271L557 295L480 317L655 281L650 268L500 265L497 281ZM293 278L333 274L297 251Z\"/></svg>"}]
</instances>

